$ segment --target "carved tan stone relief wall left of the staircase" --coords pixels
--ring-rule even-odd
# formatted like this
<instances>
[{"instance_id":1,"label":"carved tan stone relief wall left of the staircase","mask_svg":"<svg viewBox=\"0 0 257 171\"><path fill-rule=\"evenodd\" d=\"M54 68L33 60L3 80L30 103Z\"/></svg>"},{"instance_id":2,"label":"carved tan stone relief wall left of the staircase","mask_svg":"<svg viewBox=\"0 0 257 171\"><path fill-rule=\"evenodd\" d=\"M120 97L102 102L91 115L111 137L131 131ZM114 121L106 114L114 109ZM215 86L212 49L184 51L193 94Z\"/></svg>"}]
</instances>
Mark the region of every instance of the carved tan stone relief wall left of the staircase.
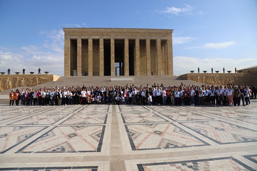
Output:
<instances>
[{"instance_id":1,"label":"carved tan stone relief wall left of the staircase","mask_svg":"<svg viewBox=\"0 0 257 171\"><path fill-rule=\"evenodd\" d=\"M29 87L56 81L57 75L25 74L25 75L0 75L0 92L16 87Z\"/></svg>"}]
</instances>

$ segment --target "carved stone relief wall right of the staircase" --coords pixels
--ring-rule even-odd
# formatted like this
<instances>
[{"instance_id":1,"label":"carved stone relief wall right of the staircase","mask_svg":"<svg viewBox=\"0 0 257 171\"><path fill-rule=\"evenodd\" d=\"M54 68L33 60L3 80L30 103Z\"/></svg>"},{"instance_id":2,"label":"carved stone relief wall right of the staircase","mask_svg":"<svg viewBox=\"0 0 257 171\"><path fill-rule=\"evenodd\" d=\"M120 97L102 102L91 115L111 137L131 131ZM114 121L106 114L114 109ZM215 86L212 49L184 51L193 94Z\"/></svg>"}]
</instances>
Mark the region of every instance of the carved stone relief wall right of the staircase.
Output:
<instances>
[{"instance_id":1,"label":"carved stone relief wall right of the staircase","mask_svg":"<svg viewBox=\"0 0 257 171\"><path fill-rule=\"evenodd\" d=\"M205 85L246 84L257 85L256 73L189 73L181 75L185 80L192 80Z\"/></svg>"}]
</instances>

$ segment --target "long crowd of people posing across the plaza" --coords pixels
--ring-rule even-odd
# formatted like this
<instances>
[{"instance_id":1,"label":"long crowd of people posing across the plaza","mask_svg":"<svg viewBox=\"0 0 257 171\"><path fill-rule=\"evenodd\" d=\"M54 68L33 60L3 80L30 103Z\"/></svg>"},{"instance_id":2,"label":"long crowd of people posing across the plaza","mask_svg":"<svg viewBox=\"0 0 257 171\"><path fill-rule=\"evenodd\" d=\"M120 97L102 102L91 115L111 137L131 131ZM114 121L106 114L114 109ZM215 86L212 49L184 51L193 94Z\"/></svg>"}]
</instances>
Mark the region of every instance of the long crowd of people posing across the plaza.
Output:
<instances>
[{"instance_id":1,"label":"long crowd of people posing across the plaza","mask_svg":"<svg viewBox=\"0 0 257 171\"><path fill-rule=\"evenodd\" d=\"M164 86L63 86L40 89L11 90L10 106L60 106L87 104L122 104L122 105L223 105L243 106L256 99L256 85L184 85Z\"/></svg>"}]
</instances>

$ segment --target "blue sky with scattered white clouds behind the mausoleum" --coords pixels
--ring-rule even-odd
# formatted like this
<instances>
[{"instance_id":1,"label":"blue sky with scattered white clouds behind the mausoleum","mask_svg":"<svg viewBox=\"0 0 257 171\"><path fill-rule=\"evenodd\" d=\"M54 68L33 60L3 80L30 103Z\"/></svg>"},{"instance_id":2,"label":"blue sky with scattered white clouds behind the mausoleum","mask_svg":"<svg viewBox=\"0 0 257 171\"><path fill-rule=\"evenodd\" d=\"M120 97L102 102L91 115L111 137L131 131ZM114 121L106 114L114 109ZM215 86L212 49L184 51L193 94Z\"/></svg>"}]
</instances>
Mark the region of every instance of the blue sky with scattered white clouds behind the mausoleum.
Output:
<instances>
[{"instance_id":1,"label":"blue sky with scattered white clouds behind the mausoleum","mask_svg":"<svg viewBox=\"0 0 257 171\"><path fill-rule=\"evenodd\" d=\"M173 31L174 75L257 65L257 0L0 0L0 72L64 75L64 27Z\"/></svg>"}]
</instances>

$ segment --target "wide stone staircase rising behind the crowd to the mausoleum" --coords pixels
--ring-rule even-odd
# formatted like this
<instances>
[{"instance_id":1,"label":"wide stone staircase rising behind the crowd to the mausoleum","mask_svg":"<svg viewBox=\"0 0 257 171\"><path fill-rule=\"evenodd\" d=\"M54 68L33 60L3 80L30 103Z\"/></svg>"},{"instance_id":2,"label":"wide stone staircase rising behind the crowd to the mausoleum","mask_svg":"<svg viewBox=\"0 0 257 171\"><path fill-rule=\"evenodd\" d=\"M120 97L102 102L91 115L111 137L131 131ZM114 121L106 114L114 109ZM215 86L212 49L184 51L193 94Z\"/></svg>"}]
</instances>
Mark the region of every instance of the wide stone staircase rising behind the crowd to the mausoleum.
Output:
<instances>
[{"instance_id":1,"label":"wide stone staircase rising behind the crowd to the mausoleum","mask_svg":"<svg viewBox=\"0 0 257 171\"><path fill-rule=\"evenodd\" d=\"M154 85L154 83L163 84L164 86L169 86L169 85L176 85L179 86L181 85L181 82L183 82L184 85L202 85L201 83L197 83L191 80L184 80L182 77L177 77L177 76L118 76L115 77L116 81L111 81L111 78L114 78L113 76L82 76L82 77L60 77L57 81L52 81L48 82L42 85L37 85L33 87L13 87L14 90L19 89L21 91L22 88L34 88L34 89L39 89L39 88L44 88L45 86L47 88L51 87L62 87L62 86L77 86L79 85L82 87L83 85L85 86L110 86L110 85L120 85L120 86L125 86L125 85L137 85L137 86L146 86L149 84L149 86ZM120 78L120 81L117 80L117 78ZM126 80L126 78L129 78ZM133 80L134 81L131 81ZM10 90L2 91L0 92L0 95L8 95ZM8 98L8 96L6 96Z\"/></svg>"}]
</instances>

